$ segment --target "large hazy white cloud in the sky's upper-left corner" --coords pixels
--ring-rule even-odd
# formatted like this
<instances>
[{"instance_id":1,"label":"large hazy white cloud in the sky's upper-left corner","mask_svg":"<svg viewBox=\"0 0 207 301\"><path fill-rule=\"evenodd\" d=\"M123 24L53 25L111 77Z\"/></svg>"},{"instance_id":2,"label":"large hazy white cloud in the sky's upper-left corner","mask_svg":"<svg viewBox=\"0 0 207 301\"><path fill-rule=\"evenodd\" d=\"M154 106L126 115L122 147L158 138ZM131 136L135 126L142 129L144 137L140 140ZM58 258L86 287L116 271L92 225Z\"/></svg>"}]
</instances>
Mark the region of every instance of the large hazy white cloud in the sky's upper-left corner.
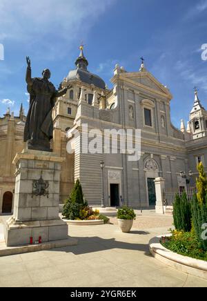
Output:
<instances>
[{"instance_id":1,"label":"large hazy white cloud in the sky's upper-left corner","mask_svg":"<svg viewBox=\"0 0 207 301\"><path fill-rule=\"evenodd\" d=\"M57 40L62 40L66 48L74 47L72 43L77 46L87 38L88 31L100 15L116 1L1 0L1 32L3 37L22 41L31 49L36 46L36 50L39 46L39 54L44 59L54 59L60 49L62 52L69 50L60 46Z\"/></svg>"}]
</instances>

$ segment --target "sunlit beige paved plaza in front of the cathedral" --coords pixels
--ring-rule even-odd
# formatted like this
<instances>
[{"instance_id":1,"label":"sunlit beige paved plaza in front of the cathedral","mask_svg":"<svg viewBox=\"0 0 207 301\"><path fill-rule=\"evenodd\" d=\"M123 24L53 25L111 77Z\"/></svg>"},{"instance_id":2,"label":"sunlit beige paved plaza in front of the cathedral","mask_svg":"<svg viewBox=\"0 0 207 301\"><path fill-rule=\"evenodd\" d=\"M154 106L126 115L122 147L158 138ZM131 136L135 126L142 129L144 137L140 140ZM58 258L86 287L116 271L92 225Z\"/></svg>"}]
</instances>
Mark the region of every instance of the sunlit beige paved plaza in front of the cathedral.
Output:
<instances>
[{"instance_id":1,"label":"sunlit beige paved plaza in front of the cathedral","mask_svg":"<svg viewBox=\"0 0 207 301\"><path fill-rule=\"evenodd\" d=\"M0 258L0 287L207 287L151 257L149 240L170 227L172 217L154 211L137 211L131 233L117 224L69 226L77 246Z\"/></svg>"}]
</instances>

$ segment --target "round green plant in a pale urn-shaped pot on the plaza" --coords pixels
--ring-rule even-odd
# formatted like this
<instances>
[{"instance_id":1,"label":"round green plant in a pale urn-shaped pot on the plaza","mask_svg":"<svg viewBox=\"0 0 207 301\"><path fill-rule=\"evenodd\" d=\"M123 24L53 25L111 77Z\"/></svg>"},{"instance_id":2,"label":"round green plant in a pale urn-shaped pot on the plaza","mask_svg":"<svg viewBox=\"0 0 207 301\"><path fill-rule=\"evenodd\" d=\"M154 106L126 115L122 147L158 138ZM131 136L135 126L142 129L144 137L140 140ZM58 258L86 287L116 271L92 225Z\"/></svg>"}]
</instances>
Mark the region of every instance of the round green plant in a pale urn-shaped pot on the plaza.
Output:
<instances>
[{"instance_id":1,"label":"round green plant in a pale urn-shaped pot on the plaza","mask_svg":"<svg viewBox=\"0 0 207 301\"><path fill-rule=\"evenodd\" d=\"M128 206L123 206L117 212L117 221L124 233L129 233L132 229L133 221L136 219L135 211Z\"/></svg>"}]
</instances>

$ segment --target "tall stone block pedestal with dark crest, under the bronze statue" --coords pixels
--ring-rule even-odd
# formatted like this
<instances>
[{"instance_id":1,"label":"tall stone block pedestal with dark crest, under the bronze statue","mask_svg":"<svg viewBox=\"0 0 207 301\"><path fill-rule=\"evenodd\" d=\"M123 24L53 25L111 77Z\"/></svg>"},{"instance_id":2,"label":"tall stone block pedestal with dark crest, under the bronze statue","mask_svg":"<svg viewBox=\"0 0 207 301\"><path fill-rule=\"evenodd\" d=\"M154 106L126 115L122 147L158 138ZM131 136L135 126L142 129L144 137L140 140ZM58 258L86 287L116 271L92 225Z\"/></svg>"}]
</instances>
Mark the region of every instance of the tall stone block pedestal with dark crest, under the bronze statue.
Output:
<instances>
[{"instance_id":1,"label":"tall stone block pedestal with dark crest, under the bronze statue","mask_svg":"<svg viewBox=\"0 0 207 301\"><path fill-rule=\"evenodd\" d=\"M23 150L14 158L14 214L6 222L7 246L68 238L68 225L59 217L59 182L63 158L55 153Z\"/></svg>"}]
</instances>

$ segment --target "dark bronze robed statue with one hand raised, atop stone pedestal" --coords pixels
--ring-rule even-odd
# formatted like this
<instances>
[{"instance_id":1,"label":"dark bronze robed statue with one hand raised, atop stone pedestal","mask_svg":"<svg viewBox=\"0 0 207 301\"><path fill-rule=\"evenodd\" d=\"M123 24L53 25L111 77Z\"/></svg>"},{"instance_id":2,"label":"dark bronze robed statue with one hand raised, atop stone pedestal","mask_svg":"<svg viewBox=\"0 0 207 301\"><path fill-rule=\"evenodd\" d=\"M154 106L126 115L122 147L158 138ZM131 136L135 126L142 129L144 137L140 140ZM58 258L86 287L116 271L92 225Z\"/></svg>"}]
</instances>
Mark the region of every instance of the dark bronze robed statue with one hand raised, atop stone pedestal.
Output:
<instances>
[{"instance_id":1,"label":"dark bronze robed statue with one hand raised, atop stone pedestal","mask_svg":"<svg viewBox=\"0 0 207 301\"><path fill-rule=\"evenodd\" d=\"M66 94L68 88L56 90L55 86L48 80L50 70L42 72L42 78L33 78L31 75L30 58L26 58L28 68L26 71L26 82L28 93L30 93L30 108L24 129L24 142L27 148L32 150L52 151L50 140L53 133L52 108L55 106L57 97Z\"/></svg>"}]
</instances>

